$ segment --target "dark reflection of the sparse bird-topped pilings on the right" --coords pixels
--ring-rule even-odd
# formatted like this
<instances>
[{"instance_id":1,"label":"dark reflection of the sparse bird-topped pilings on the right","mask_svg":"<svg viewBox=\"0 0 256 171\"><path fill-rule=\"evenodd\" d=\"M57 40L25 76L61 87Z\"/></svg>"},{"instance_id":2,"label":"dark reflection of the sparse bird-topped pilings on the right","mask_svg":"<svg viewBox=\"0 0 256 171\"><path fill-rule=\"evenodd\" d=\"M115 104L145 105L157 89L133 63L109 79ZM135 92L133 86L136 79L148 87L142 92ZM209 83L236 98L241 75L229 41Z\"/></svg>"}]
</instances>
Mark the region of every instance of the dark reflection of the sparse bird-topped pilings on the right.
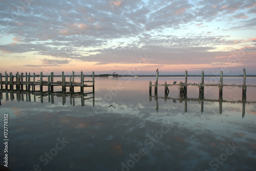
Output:
<instances>
[{"instance_id":1,"label":"dark reflection of the sparse bird-topped pilings on the right","mask_svg":"<svg viewBox=\"0 0 256 171\"><path fill-rule=\"evenodd\" d=\"M242 110L242 118L244 118L245 116L245 104L249 104L249 103L256 103L256 101L246 101L246 94L243 94L242 96L242 101L239 100L239 101L232 101L232 100L223 100L223 96L222 96L222 93L220 94L219 96L219 99L205 99L203 97L202 94L199 93L199 98L188 98L187 97L187 91L186 89L184 88L184 91L180 91L182 93L180 93L180 96L179 98L172 98L172 97L168 97L168 94L169 92L165 93L164 97L161 97L161 96L158 96L157 92L155 93L154 95L154 99L156 101L156 111L158 113L158 110L159 110L159 105L158 105L158 99L161 98L161 99L164 99L164 102L166 102L167 100L172 100L174 103L176 103L177 101L179 101L180 103L182 103L184 101L184 112L186 113L187 112L187 102L189 101L198 101L199 104L201 104L201 114L204 112L204 102L207 101L207 102L219 102L219 114L222 114L222 103L242 103L243 105L243 110ZM202 93L202 92L201 92ZM150 102L152 101L152 94L150 92Z\"/></svg>"}]
</instances>

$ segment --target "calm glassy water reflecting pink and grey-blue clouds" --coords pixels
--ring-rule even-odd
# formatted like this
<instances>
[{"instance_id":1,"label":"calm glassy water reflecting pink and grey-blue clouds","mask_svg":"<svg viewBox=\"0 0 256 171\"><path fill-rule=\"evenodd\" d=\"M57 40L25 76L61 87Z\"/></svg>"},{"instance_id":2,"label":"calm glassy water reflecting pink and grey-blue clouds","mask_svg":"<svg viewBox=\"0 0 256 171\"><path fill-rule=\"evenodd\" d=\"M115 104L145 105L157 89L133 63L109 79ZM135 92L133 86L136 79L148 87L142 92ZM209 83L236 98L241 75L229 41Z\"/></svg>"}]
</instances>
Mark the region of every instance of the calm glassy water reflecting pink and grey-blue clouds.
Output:
<instances>
[{"instance_id":1,"label":"calm glassy water reflecting pink and grey-blue clouds","mask_svg":"<svg viewBox=\"0 0 256 171\"><path fill-rule=\"evenodd\" d=\"M153 89L150 97L149 80L154 83L155 78L96 77L95 98L85 100L92 94L77 98L25 94L24 101L17 101L16 94L11 100L10 92L2 93L1 125L4 114L9 114L8 167L255 170L256 88L247 88L244 104L238 87L224 87L222 101L217 87L205 88L203 100L198 99L197 87L188 87L187 100L180 100L178 87L170 87L167 98L163 87L157 97ZM159 83L164 80L184 82L182 77L159 77ZM200 81L188 77L188 82ZM205 77L206 83L215 81L219 79ZM256 78L248 77L246 82L256 85ZM224 77L224 83L242 84L243 79ZM3 126L0 132L4 137ZM1 165L4 148L1 143Z\"/></svg>"}]
</instances>

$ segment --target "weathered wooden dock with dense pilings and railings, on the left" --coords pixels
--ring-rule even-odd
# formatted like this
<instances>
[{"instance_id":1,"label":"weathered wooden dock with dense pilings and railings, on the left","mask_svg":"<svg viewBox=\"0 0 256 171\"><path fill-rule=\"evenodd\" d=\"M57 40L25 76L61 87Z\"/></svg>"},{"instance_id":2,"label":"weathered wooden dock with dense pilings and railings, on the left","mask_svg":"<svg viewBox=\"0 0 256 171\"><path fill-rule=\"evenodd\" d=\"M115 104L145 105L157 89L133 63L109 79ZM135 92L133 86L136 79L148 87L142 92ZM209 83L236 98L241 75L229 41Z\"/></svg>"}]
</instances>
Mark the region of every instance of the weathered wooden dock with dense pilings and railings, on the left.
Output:
<instances>
[{"instance_id":1,"label":"weathered wooden dock with dense pilings and railings, on the left","mask_svg":"<svg viewBox=\"0 0 256 171\"><path fill-rule=\"evenodd\" d=\"M53 92L55 86L61 86L63 92L66 92L67 87L69 87L70 92L74 92L74 87L80 87L81 92L83 92L84 87L92 87L94 92L94 72L92 72L92 80L84 81L84 74L81 71L80 82L74 82L74 71L72 71L72 75L69 76L69 81L66 81L66 76L63 71L61 81L53 81L53 72L51 72L51 75L47 76L48 81L43 80L43 77L42 72L40 72L39 80L35 80L35 73L33 73L33 76L30 75L30 73L27 74L27 72L26 75L24 75L24 73L19 75L17 72L15 76L12 73L10 73L10 75L5 73L5 76L0 73L0 88L3 89L5 86L5 90L13 90L15 86L16 90L24 90L25 86L26 90L30 91L32 88L32 91L35 91L35 86L39 86L39 90L43 91L43 87L47 86L48 92ZM5 80L3 80L3 78L5 78ZM89 83L91 83L91 85L89 85Z\"/></svg>"}]
</instances>

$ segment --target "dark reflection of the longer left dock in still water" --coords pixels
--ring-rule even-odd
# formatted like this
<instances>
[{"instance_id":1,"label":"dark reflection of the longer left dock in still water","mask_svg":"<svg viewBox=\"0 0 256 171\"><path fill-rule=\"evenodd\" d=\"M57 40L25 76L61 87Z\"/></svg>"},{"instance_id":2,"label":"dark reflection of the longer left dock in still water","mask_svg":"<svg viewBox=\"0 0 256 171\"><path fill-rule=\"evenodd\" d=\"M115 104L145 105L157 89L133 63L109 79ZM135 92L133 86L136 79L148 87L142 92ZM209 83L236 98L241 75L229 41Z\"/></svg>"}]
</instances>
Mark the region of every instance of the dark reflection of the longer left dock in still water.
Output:
<instances>
[{"instance_id":1,"label":"dark reflection of the longer left dock in still water","mask_svg":"<svg viewBox=\"0 0 256 171\"><path fill-rule=\"evenodd\" d=\"M17 100L17 101L39 101L44 102L44 97L48 97L48 102L54 104L54 96L56 97L62 97L62 105L65 105L67 103L66 98L69 97L70 105L75 105L75 98L81 99L81 106L84 106L84 100L93 100L93 107L95 106L95 93L89 92L89 93L83 93L83 92L42 92L42 91L24 91L24 90L0 90L1 94L1 100L0 105L2 105L1 101L3 100L3 94L5 94L5 100ZM9 98L10 96L10 98Z\"/></svg>"}]
</instances>

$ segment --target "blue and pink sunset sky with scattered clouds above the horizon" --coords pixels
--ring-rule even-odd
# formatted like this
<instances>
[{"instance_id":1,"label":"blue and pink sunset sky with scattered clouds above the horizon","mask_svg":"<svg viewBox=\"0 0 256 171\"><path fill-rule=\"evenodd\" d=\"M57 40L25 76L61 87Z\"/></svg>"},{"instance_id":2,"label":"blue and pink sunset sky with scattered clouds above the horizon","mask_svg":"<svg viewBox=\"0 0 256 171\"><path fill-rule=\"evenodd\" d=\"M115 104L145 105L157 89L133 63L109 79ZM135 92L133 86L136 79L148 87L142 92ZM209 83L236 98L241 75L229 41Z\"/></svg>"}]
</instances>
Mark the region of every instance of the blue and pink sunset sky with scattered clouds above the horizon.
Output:
<instances>
[{"instance_id":1,"label":"blue and pink sunset sky with scattered clouds above the horizon","mask_svg":"<svg viewBox=\"0 0 256 171\"><path fill-rule=\"evenodd\" d=\"M0 73L256 74L254 0L0 0Z\"/></svg>"}]
</instances>

